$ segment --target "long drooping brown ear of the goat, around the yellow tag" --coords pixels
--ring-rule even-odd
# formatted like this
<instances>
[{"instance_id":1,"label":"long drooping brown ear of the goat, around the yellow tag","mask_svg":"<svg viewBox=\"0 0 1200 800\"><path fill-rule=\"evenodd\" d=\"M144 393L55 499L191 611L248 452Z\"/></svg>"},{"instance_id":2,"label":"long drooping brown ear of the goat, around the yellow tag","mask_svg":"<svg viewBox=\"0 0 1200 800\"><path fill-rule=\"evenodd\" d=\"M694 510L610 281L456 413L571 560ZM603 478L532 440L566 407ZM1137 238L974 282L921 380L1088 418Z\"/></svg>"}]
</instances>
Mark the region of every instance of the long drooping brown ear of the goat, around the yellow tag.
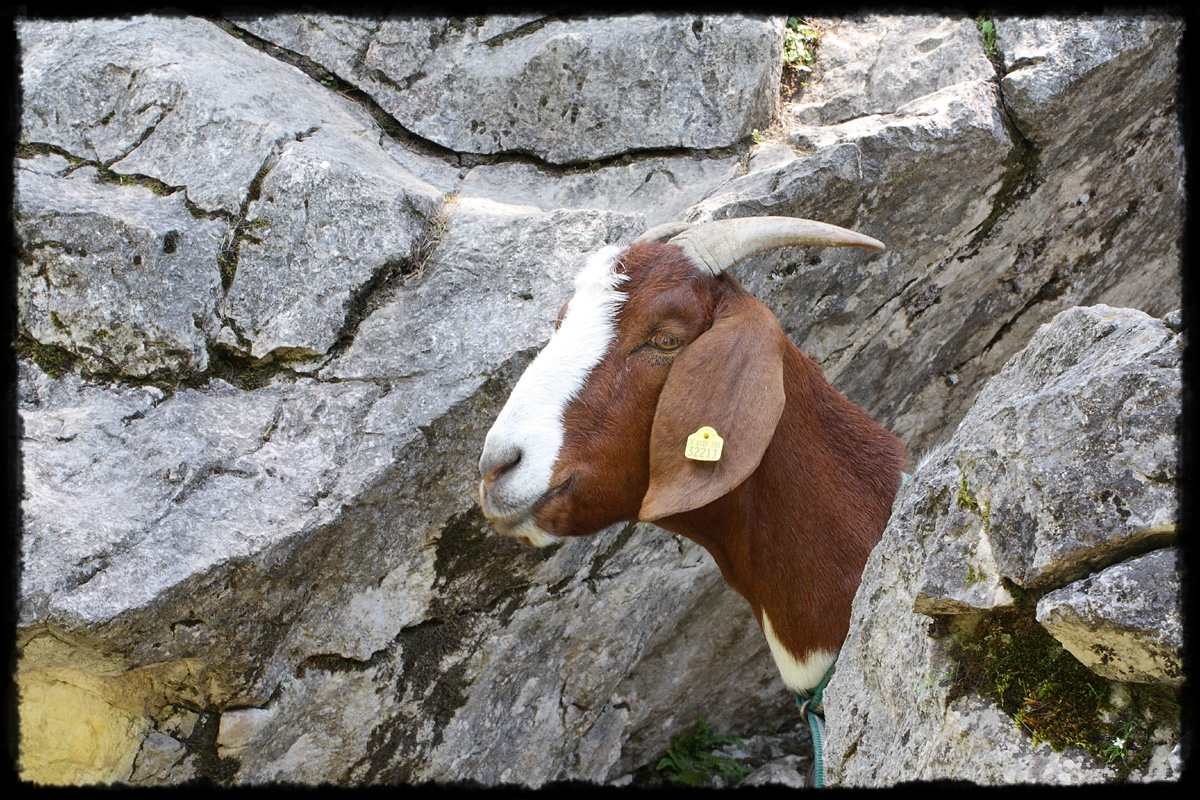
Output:
<instances>
[{"instance_id":1,"label":"long drooping brown ear of the goat, around the yellow tag","mask_svg":"<svg viewBox=\"0 0 1200 800\"><path fill-rule=\"evenodd\" d=\"M708 505L757 469L784 413L786 342L775 315L752 295L722 301L713 326L676 357L659 395L638 519ZM688 437L703 426L725 440L720 461L684 456Z\"/></svg>"}]
</instances>

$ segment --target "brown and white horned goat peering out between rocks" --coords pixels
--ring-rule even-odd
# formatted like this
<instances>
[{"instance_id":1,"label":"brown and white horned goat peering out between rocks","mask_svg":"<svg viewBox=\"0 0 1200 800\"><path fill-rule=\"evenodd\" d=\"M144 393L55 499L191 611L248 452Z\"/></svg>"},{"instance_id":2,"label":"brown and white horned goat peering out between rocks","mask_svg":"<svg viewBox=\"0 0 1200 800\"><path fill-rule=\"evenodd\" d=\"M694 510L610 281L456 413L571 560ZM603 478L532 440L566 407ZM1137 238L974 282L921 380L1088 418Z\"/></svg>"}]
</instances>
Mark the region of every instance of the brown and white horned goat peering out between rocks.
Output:
<instances>
[{"instance_id":1,"label":"brown and white horned goat peering out between rocks","mask_svg":"<svg viewBox=\"0 0 1200 800\"><path fill-rule=\"evenodd\" d=\"M725 270L775 247L883 249L810 219L654 228L594 253L487 433L480 506L530 546L654 522L703 546L793 691L850 627L900 483L900 441L838 393ZM709 427L718 461L685 453Z\"/></svg>"}]
</instances>

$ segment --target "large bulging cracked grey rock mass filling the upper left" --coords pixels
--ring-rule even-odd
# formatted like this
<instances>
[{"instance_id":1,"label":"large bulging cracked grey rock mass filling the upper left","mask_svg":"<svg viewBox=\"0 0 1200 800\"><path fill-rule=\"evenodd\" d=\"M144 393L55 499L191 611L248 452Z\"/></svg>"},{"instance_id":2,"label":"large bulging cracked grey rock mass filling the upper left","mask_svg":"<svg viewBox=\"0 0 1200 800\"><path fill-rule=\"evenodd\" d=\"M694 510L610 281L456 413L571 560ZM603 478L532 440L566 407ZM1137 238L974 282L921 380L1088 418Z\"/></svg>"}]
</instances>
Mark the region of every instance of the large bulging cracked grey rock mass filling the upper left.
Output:
<instances>
[{"instance_id":1,"label":"large bulging cracked grey rock mass filling the upper left","mask_svg":"<svg viewBox=\"0 0 1200 800\"><path fill-rule=\"evenodd\" d=\"M96 36L103 37L108 55L97 55ZM168 200L174 215L158 221L160 228L168 222L172 227L154 231L163 239L164 252L178 251L175 259L186 259L184 277L175 275L181 267L151 271L154 264L148 261L142 273L151 277L138 279L139 272L131 272L126 261L132 258L136 266L149 257L126 253L137 249L130 242L115 249L98 245L85 251L92 253L100 275L128 275L126 282L132 284L128 299L94 303L107 307L108 315L115 318L108 321L109 327L119 321L132 331L118 331L104 345L68 347L94 372L203 372L205 348L212 341L257 359L275 351L323 355L336 343L354 302L373 281L414 266L442 193L378 145L379 134L365 112L325 89L312 91L312 82L294 67L194 18L134 17L107 20L98 28L82 20L62 25L26 22L20 37L26 67L25 142L96 160L116 175L144 175L167 187L184 188ZM97 58L107 59L107 66L100 68L94 62ZM78 106L62 107L65 97L79 91L86 97ZM151 98L160 98L151 104L158 108L158 116L130 140L132 133L121 133L132 125L130 107ZM221 124L206 122L214 119ZM89 174L80 170L73 181L54 181L35 170L25 172L37 175L26 181L23 192L30 203L46 203L37 199L42 196L78 196L83 190L74 188L76 182ZM124 191L149 194L149 190ZM185 198L193 205L185 206ZM100 200L89 201L96 206ZM121 203L108 203L106 209L110 205L112 211L106 212L112 213ZM52 203L49 207L58 206ZM89 218L77 218L80 212L64 216L59 210L55 239L76 241L94 234ZM205 218L204 212L233 224L222 225ZM38 215L30 209L23 213L32 222L49 212ZM140 213L148 216L144 210ZM74 230L77 227L83 229ZM32 249L42 246L47 234L34 229L29 235ZM140 239L148 235L138 234ZM221 239L214 240L215 235ZM46 253L59 260L72 258L59 249L52 245ZM71 252L84 251L77 246ZM191 285L200 279L192 275L200 265L200 276L208 281L205 291ZM46 271L36 261L31 269ZM68 283L67 277L56 277L64 269L52 270L52 284ZM88 261L83 271L97 270ZM166 285L154 289L151 281ZM222 281L227 293L221 291ZM74 291L89 285L85 281ZM106 285L109 294L124 295L118 291L124 287L112 277ZM166 294L145 297L151 290ZM179 299L173 300L172 294ZM26 323L35 326L35 338L46 344L82 336L59 330L72 326L70 307L66 314L50 309L61 323L52 325L47 309L38 306L62 302L37 300L30 313L41 319ZM220 300L220 324L214 319L215 300ZM130 308L122 313L126 306ZM132 319L125 321L126 315ZM90 338L106 335L102 321L86 320ZM97 348L100 353L94 354ZM121 350L115 362L109 353L114 348Z\"/></svg>"}]
</instances>

